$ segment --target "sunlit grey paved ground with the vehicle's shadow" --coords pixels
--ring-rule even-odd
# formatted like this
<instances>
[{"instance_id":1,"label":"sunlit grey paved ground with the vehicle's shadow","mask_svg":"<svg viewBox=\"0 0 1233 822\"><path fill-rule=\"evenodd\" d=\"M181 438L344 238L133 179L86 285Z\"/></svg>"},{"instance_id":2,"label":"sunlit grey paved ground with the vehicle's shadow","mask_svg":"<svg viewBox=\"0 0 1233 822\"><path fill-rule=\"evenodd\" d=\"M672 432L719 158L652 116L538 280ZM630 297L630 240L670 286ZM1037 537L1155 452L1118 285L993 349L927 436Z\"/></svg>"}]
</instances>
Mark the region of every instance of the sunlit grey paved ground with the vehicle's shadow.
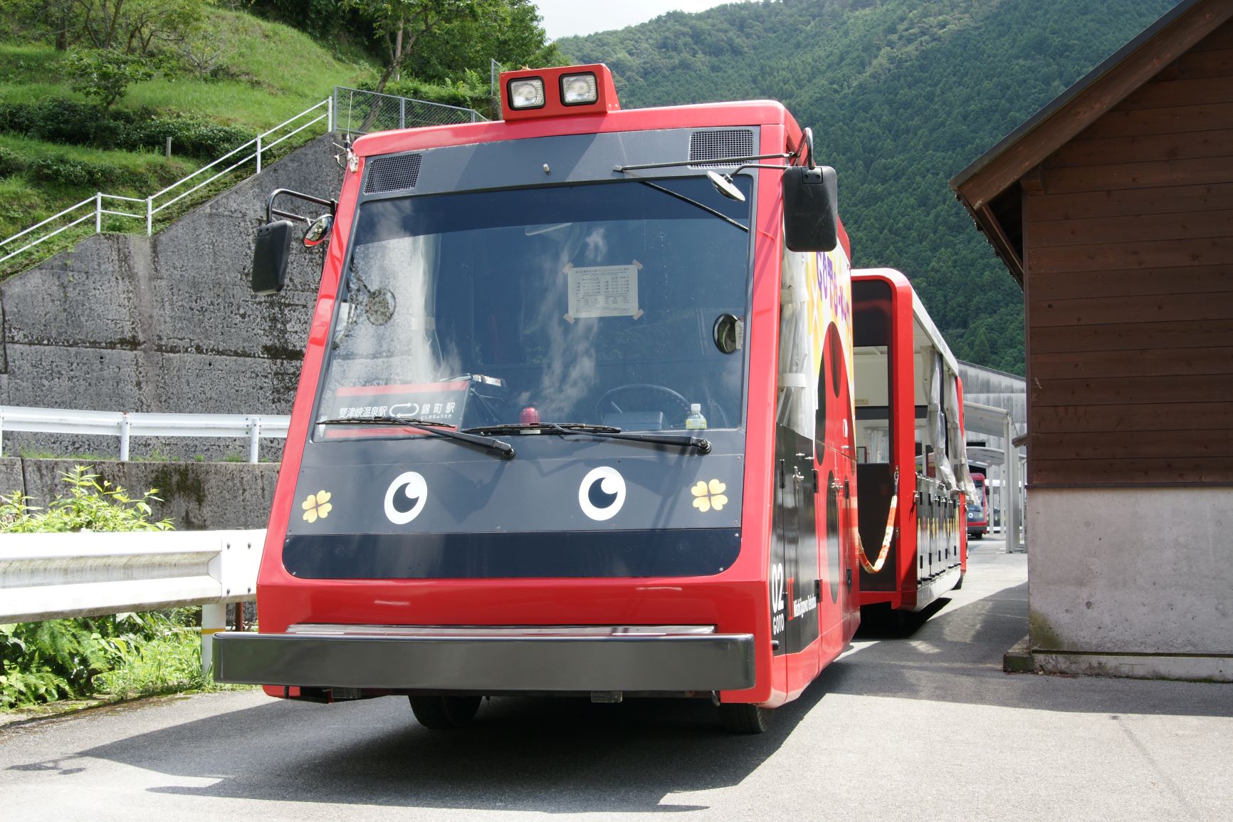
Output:
<instances>
[{"instance_id":1,"label":"sunlit grey paved ground with the vehicle's shadow","mask_svg":"<svg viewBox=\"0 0 1233 822\"><path fill-rule=\"evenodd\" d=\"M1233 820L1233 686L1001 673L1027 622L1001 548L761 737L704 704L504 699L433 733L402 699L215 694L0 728L0 820Z\"/></svg>"}]
</instances>

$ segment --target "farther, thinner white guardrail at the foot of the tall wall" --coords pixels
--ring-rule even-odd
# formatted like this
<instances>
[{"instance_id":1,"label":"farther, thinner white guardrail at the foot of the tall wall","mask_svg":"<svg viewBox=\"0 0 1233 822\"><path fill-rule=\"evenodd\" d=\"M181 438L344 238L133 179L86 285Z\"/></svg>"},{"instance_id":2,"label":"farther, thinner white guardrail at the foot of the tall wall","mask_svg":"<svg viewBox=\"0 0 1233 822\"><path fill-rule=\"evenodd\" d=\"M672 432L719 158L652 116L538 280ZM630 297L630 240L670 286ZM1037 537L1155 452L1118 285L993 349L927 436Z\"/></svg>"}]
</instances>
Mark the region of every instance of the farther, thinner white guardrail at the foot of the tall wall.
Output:
<instances>
[{"instance_id":1,"label":"farther, thinner white guardrail at the foot of the tall wall","mask_svg":"<svg viewBox=\"0 0 1233 822\"><path fill-rule=\"evenodd\" d=\"M290 422L286 415L147 413L0 405L0 455L4 455L5 431L120 437L122 462L128 460L132 437L245 437L248 462L256 463L261 438L286 439Z\"/></svg>"}]
</instances>

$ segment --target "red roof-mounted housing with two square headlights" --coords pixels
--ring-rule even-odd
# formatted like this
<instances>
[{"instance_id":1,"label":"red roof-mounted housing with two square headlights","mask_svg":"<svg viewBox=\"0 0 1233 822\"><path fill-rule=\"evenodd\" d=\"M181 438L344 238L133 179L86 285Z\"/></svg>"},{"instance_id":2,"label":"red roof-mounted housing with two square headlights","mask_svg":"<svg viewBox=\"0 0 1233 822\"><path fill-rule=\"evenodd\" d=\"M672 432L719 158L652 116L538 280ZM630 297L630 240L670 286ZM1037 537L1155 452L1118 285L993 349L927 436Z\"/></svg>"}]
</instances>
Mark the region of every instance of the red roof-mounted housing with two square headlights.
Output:
<instances>
[{"instance_id":1,"label":"red roof-mounted housing with two square headlights","mask_svg":"<svg viewBox=\"0 0 1233 822\"><path fill-rule=\"evenodd\" d=\"M616 111L616 86L603 63L501 73L502 114L509 120Z\"/></svg>"}]
</instances>

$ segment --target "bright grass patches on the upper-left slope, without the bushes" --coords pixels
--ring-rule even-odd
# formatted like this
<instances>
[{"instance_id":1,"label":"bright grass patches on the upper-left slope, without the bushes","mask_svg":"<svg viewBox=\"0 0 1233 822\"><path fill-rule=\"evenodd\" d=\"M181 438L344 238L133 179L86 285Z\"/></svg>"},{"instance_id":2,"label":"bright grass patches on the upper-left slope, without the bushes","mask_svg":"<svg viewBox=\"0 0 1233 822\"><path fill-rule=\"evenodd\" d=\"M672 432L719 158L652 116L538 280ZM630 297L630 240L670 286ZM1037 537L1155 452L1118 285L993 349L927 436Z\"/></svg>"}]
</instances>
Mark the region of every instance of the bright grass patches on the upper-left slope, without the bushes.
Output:
<instances>
[{"instance_id":1,"label":"bright grass patches on the upper-left slope, without the bushes","mask_svg":"<svg viewBox=\"0 0 1233 822\"><path fill-rule=\"evenodd\" d=\"M208 30L216 42L224 47L219 65L221 77L159 77L137 83L116 104L118 109L154 109L162 114L191 114L221 125L245 128L255 137L324 100L333 91L333 86L355 85L363 77L374 72L371 64L339 58L303 32L282 23L224 9L208 9L206 14ZM63 79L60 69L63 59L64 54L51 44L0 42L0 101L36 102L54 99L85 101L85 98L73 91ZM324 110L316 114L324 114ZM275 162L323 132L324 123L318 123L280 143L272 152L263 152L263 165ZM160 152L99 151L5 133L0 133L0 148L12 151L27 164L43 157L81 160L111 169L107 176L116 180L105 185L65 185L36 179L28 169L0 178L0 239L6 239L92 196L96 190L144 199L208 163L208 160L181 159L174 154L168 159ZM160 211L154 217L154 230L165 227L252 173L252 163L242 165L221 180ZM206 176L202 175L201 179ZM185 190L189 188L191 185L185 186ZM112 201L105 207L134 214L144 212L144 206L138 202ZM58 225L68 223L88 211L89 207L84 207L80 212L62 218ZM143 232L145 221L105 216L102 228ZM0 247L0 257L43 233L41 230L28 238ZM68 251L91 233L94 233L94 221L88 220L0 263L0 279Z\"/></svg>"}]
</instances>

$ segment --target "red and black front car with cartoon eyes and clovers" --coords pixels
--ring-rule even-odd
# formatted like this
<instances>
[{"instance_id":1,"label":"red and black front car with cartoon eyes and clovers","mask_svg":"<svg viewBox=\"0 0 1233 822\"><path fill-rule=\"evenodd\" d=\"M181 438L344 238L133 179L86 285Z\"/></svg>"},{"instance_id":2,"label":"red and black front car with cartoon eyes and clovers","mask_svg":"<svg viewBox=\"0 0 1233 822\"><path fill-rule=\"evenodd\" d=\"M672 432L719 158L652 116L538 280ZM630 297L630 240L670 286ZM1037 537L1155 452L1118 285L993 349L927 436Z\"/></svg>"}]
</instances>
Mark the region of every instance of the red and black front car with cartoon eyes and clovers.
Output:
<instances>
[{"instance_id":1,"label":"red and black front car with cartoon eyes and clovers","mask_svg":"<svg viewBox=\"0 0 1233 822\"><path fill-rule=\"evenodd\" d=\"M856 625L814 504L845 486L815 442L851 434L813 425L824 352L848 364L834 172L777 102L620 111L603 65L502 88L502 122L344 157L260 632L218 636L217 679L432 727L690 696L762 731Z\"/></svg>"}]
</instances>

